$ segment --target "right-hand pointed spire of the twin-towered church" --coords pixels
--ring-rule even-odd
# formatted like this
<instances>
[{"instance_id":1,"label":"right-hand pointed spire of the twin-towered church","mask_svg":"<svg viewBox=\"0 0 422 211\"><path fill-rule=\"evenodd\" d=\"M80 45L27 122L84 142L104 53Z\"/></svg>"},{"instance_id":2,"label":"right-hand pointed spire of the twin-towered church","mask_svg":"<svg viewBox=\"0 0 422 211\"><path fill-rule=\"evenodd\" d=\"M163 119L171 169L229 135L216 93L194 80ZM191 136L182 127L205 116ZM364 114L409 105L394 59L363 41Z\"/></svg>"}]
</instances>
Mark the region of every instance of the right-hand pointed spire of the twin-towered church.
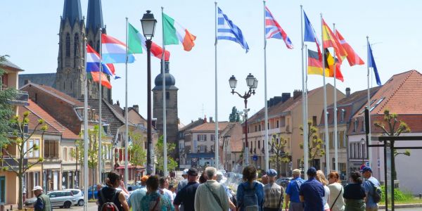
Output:
<instances>
[{"instance_id":1,"label":"right-hand pointed spire of the twin-towered church","mask_svg":"<svg viewBox=\"0 0 422 211\"><path fill-rule=\"evenodd\" d=\"M87 32L91 30L94 34L99 28L104 28L103 11L101 9L101 0L88 1Z\"/></svg>"}]
</instances>

